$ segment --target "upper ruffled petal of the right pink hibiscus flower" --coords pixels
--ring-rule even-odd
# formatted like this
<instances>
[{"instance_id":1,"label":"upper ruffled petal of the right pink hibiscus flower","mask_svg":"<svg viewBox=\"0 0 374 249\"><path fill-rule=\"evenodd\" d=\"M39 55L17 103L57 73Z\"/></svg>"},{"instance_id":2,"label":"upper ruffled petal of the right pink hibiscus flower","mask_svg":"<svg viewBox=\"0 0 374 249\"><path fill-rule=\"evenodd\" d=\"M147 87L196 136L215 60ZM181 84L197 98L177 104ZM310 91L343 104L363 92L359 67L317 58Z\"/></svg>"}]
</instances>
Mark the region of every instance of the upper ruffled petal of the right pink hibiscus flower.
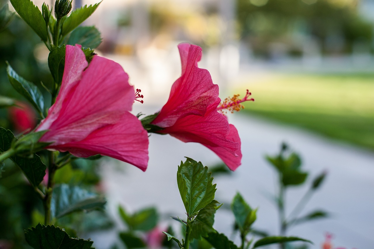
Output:
<instances>
[{"instance_id":1,"label":"upper ruffled petal of the right pink hibiscus flower","mask_svg":"<svg viewBox=\"0 0 374 249\"><path fill-rule=\"evenodd\" d=\"M152 122L160 127L172 126L190 114L203 116L206 108L218 98L218 85L213 84L208 70L196 65L201 58L201 47L182 43L178 48L182 76L174 82L168 102Z\"/></svg>"}]
</instances>

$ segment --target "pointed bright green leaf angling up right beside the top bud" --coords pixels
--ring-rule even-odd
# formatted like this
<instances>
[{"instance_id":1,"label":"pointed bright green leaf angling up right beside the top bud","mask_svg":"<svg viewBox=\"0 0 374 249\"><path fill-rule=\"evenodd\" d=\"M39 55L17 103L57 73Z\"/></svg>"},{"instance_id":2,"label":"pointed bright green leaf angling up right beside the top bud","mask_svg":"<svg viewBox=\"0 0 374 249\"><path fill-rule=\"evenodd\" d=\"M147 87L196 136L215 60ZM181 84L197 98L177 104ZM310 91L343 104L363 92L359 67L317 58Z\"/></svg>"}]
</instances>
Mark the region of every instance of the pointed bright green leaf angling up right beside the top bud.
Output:
<instances>
[{"instance_id":1,"label":"pointed bright green leaf angling up right beside the top bud","mask_svg":"<svg viewBox=\"0 0 374 249\"><path fill-rule=\"evenodd\" d=\"M91 16L100 3L90 6L85 5L71 12L70 16L66 17L64 19L64 23L62 24L62 36L66 36L68 33L73 31L74 28L78 27L79 24Z\"/></svg>"}]
</instances>

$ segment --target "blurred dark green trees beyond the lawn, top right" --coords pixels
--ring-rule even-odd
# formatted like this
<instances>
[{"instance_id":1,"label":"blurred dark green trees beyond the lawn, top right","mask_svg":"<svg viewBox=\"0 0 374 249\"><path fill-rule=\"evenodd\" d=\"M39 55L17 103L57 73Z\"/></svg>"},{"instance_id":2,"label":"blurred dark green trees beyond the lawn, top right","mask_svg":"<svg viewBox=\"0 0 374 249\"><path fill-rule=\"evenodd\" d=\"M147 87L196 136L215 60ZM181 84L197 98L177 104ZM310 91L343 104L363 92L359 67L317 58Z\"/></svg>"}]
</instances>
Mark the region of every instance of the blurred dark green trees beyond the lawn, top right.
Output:
<instances>
[{"instance_id":1,"label":"blurred dark green trees beyond the lawn, top right","mask_svg":"<svg viewBox=\"0 0 374 249\"><path fill-rule=\"evenodd\" d=\"M349 53L355 42L373 40L373 24L359 15L356 5L338 0L237 0L239 32L263 55L272 42L295 45L295 35L317 39L322 53Z\"/></svg>"}]
</instances>

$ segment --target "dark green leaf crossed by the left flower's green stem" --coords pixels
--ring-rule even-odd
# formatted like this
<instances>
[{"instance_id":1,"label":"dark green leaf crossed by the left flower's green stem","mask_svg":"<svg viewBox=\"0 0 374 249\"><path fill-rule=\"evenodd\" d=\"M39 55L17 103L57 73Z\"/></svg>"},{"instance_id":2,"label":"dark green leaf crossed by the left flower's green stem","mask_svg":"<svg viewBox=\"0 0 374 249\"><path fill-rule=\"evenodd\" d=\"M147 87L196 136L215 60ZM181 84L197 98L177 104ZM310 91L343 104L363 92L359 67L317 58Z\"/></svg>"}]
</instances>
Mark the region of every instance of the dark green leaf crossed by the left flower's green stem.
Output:
<instances>
[{"instance_id":1,"label":"dark green leaf crossed by the left flower's green stem","mask_svg":"<svg viewBox=\"0 0 374 249\"><path fill-rule=\"evenodd\" d=\"M13 139L14 135L10 130L0 127L0 152L9 150ZM37 154L29 157L12 156L10 159L21 168L33 187L37 187L43 181L47 167Z\"/></svg>"}]
</instances>

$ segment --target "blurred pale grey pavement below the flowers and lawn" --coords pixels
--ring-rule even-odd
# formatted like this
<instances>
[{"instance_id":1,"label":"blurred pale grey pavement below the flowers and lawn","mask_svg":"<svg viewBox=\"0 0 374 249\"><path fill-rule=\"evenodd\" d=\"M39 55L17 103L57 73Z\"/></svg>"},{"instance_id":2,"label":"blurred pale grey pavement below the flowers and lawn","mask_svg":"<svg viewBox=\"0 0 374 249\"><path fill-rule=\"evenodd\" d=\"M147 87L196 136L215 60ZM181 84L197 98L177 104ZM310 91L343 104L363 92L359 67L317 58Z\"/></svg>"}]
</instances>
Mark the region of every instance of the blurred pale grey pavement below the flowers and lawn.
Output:
<instances>
[{"instance_id":1,"label":"blurred pale grey pavement below the flowers and lawn","mask_svg":"<svg viewBox=\"0 0 374 249\"><path fill-rule=\"evenodd\" d=\"M147 114L152 111L157 109L150 108ZM271 234L279 232L275 206L267 197L276 191L276 175L264 155L278 153L281 142L285 141L300 153L303 167L310 173L309 181L322 170L328 171L325 183L302 214L314 209L324 209L331 213L331 218L296 226L289 230L288 235L312 240L315 244L311 248L321 248L326 232L334 234L336 247L374 248L373 153L240 113L230 115L229 121L237 127L242 139L243 160L242 166L232 175L214 179L218 189L215 199L224 203L224 207L230 206L233 196L239 191L252 207L259 207L254 226ZM146 172L119 162L117 165L112 165L112 162L103 165L108 210L115 219L119 219L118 204L131 211L156 205L165 216L184 217L176 182L177 165L181 160L184 161L184 156L201 161L206 166L220 162L214 153L202 145L185 144L169 135L151 135L149 155ZM290 189L287 192L288 212L304 191ZM175 223L170 220L163 225ZM233 215L227 209L218 210L214 227L230 235L232 225ZM108 242L116 240L118 235L106 232L89 236L96 248L105 249L110 245ZM237 241L238 238L232 239Z\"/></svg>"}]
</instances>

